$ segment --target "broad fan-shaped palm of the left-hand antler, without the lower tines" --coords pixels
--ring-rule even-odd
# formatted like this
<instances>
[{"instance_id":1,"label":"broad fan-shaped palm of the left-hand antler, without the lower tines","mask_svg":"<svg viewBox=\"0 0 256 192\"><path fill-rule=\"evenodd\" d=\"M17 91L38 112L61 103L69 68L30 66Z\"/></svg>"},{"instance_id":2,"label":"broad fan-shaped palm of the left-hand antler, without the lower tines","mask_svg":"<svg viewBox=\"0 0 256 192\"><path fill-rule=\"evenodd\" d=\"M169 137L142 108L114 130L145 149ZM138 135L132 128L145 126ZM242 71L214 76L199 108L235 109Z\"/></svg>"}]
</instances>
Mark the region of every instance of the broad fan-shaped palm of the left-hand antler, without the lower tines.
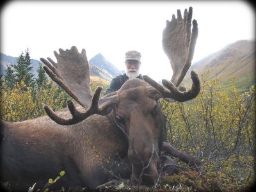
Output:
<instances>
[{"instance_id":1,"label":"broad fan-shaped palm of the left-hand antler, without the lower tines","mask_svg":"<svg viewBox=\"0 0 256 192\"><path fill-rule=\"evenodd\" d=\"M90 67L86 57L85 49L81 54L76 47L70 50L59 49L60 54L54 51L57 59L55 63L51 58L40 60L47 74L65 90L74 100L84 108L89 108L92 101L92 90L90 88Z\"/></svg>"}]
</instances>

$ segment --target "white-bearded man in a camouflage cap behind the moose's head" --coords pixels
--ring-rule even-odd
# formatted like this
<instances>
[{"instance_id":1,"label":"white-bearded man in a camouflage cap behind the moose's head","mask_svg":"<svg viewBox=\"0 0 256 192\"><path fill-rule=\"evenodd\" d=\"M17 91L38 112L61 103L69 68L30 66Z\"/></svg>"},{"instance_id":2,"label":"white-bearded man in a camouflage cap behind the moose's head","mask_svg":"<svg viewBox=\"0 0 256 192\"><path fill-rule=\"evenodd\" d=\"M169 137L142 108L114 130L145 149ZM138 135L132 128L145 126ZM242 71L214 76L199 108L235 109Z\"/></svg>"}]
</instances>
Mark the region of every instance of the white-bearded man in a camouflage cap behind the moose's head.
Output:
<instances>
[{"instance_id":1,"label":"white-bearded man in a camouflage cap behind the moose's head","mask_svg":"<svg viewBox=\"0 0 256 192\"><path fill-rule=\"evenodd\" d=\"M112 79L109 88L106 90L106 94L119 90L121 86L128 79L139 78L142 79L140 74L141 54L138 51L127 51L125 53L125 74L120 75Z\"/></svg>"}]
</instances>

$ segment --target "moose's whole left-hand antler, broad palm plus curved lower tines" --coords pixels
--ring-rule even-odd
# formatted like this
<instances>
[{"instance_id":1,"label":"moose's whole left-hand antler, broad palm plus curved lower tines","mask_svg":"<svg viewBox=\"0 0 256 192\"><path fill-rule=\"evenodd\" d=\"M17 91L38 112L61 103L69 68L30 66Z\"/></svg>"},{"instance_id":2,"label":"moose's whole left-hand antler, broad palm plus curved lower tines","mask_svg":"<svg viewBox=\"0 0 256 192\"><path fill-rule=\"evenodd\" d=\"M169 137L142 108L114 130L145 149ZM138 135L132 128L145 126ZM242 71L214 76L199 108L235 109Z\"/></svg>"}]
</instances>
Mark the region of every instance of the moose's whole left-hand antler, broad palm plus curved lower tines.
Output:
<instances>
[{"instance_id":1,"label":"moose's whole left-hand antler, broad palm plus curved lower tines","mask_svg":"<svg viewBox=\"0 0 256 192\"><path fill-rule=\"evenodd\" d=\"M78 111L72 100L68 100L67 105L72 118L61 118L49 106L45 105L44 109L47 115L54 122L61 125L77 124L93 114L107 115L113 108L113 104L118 100L118 97L113 95L100 99L101 87L98 87L92 96L92 90L90 88L90 67L87 61L86 51L83 49L80 54L76 47L71 47L70 50L66 49L66 51L63 51L63 49L59 50L60 54L54 51L57 63L51 58L47 58L48 61L44 58L40 58L40 60L46 65L44 69L52 80L59 84L86 111Z\"/></svg>"}]
</instances>

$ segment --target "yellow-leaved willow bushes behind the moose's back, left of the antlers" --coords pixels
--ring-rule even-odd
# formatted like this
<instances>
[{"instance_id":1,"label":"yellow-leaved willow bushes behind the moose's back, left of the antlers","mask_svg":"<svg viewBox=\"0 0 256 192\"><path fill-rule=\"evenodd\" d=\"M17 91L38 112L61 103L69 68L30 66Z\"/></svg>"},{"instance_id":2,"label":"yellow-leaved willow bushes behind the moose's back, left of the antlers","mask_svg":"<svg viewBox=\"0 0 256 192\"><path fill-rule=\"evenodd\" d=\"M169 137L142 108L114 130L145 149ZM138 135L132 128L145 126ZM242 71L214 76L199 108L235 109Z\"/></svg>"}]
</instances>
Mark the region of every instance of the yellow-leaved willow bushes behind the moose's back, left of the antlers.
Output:
<instances>
[{"instance_id":1,"label":"yellow-leaved willow bushes behind the moose's back, left of the antlers","mask_svg":"<svg viewBox=\"0 0 256 192\"><path fill-rule=\"evenodd\" d=\"M1 82L0 117L7 122L20 122L46 115L44 104L54 111L64 108L70 97L53 81L33 90L24 81L15 83L13 88Z\"/></svg>"}]
</instances>

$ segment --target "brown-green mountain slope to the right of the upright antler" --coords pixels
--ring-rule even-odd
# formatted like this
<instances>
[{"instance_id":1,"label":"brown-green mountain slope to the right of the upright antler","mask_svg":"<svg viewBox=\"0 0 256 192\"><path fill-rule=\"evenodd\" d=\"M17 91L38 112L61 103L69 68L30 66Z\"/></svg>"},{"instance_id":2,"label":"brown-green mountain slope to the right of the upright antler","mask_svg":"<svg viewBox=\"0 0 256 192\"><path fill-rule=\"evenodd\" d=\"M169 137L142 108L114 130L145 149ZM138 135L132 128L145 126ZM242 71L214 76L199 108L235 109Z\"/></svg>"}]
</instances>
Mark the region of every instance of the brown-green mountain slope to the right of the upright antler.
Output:
<instances>
[{"instance_id":1,"label":"brown-green mountain slope to the right of the upright antler","mask_svg":"<svg viewBox=\"0 0 256 192\"><path fill-rule=\"evenodd\" d=\"M198 74L209 70L209 79L220 77L225 90L230 88L232 76L235 76L237 90L248 91L255 84L255 41L239 40L229 44L195 62L191 68ZM184 78L185 85L191 82L189 74Z\"/></svg>"}]
</instances>

